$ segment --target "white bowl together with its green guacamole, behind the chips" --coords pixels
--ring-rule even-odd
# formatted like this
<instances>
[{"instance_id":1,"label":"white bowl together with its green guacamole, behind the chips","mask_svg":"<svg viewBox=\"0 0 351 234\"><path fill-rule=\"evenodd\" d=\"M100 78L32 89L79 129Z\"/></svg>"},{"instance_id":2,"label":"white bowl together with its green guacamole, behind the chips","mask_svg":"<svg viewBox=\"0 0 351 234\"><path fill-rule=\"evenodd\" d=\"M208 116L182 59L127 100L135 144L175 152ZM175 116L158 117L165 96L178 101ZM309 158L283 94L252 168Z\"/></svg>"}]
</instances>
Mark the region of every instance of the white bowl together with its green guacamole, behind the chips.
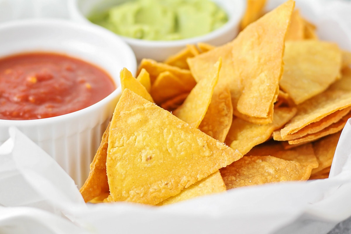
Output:
<instances>
[{"instance_id":1,"label":"white bowl together with its green guacamole, behind the chips","mask_svg":"<svg viewBox=\"0 0 351 234\"><path fill-rule=\"evenodd\" d=\"M187 44L217 46L238 33L245 0L72 0L71 19L122 37L138 60L165 60Z\"/></svg>"}]
</instances>

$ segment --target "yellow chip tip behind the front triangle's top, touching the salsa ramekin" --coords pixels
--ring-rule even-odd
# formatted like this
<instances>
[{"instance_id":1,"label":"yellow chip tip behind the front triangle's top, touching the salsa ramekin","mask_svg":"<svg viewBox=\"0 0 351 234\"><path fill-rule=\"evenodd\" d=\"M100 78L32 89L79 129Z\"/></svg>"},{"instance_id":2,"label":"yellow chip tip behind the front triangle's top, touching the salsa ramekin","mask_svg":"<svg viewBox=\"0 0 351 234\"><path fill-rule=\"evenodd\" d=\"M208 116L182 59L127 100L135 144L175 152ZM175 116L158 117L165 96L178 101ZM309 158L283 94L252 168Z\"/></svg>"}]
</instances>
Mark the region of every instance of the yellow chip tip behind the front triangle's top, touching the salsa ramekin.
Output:
<instances>
[{"instance_id":1,"label":"yellow chip tip behind the front triangle's top, touching the salsa ramekin","mask_svg":"<svg viewBox=\"0 0 351 234\"><path fill-rule=\"evenodd\" d=\"M120 72L120 79L121 79L121 88L122 91L124 89L130 89L134 93L142 96L148 101L154 102L150 93L147 92L146 88L133 77L132 73L128 71L127 68L123 68Z\"/></svg>"}]
</instances>

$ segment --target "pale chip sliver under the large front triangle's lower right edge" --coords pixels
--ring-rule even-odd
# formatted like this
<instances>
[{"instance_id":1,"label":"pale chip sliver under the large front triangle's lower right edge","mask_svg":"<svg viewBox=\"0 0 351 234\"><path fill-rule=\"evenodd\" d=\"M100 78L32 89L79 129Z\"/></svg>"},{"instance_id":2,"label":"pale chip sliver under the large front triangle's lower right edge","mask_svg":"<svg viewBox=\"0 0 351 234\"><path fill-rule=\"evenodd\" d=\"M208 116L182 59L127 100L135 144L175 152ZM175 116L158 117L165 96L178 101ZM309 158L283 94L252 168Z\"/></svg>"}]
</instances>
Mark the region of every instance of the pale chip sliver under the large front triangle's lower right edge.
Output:
<instances>
[{"instance_id":1,"label":"pale chip sliver under the large front triangle's lower right edge","mask_svg":"<svg viewBox=\"0 0 351 234\"><path fill-rule=\"evenodd\" d=\"M204 196L213 193L220 193L226 191L225 184L219 171L207 176L193 185L182 190L176 196L167 198L158 203L158 206L170 205L179 201L185 201L199 196Z\"/></svg>"}]
</instances>

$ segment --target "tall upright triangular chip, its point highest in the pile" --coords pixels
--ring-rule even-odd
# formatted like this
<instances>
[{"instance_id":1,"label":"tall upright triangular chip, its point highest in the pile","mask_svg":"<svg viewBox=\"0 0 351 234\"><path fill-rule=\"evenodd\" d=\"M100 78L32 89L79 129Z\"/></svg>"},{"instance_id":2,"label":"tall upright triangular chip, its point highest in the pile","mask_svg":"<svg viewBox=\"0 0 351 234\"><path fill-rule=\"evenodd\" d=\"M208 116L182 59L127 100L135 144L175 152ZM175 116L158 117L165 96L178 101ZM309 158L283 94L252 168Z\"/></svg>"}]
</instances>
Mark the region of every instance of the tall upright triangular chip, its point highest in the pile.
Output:
<instances>
[{"instance_id":1,"label":"tall upright triangular chip, its point highest in the pile","mask_svg":"<svg viewBox=\"0 0 351 234\"><path fill-rule=\"evenodd\" d=\"M187 59L194 78L201 80L209 64L222 57L218 82L230 88L235 115L268 118L273 111L293 7L294 1L289 0L246 27L232 42Z\"/></svg>"}]
</instances>

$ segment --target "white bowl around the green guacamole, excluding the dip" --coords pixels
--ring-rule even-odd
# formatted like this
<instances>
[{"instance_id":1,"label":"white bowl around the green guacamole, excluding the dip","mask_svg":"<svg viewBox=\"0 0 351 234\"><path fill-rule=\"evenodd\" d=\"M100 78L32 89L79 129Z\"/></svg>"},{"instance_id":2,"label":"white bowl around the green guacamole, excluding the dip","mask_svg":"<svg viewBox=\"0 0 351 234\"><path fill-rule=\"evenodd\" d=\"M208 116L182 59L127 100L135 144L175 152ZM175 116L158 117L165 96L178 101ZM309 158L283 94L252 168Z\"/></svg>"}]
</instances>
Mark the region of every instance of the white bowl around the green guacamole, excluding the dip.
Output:
<instances>
[{"instance_id":1,"label":"white bowl around the green guacamole, excluding the dip","mask_svg":"<svg viewBox=\"0 0 351 234\"><path fill-rule=\"evenodd\" d=\"M246 0L213 1L226 11L229 20L223 25L223 27L220 27L211 33L194 38L174 41L149 41L127 38L124 36L121 37L132 47L138 61L143 58L163 61L168 56L183 49L187 44L206 42L214 46L223 45L234 39L238 34L239 22L246 9ZM86 16L92 11L103 11L119 2L123 2L123 0L71 0L68 1L69 17L74 21L91 23L87 20Z\"/></svg>"}]
</instances>

